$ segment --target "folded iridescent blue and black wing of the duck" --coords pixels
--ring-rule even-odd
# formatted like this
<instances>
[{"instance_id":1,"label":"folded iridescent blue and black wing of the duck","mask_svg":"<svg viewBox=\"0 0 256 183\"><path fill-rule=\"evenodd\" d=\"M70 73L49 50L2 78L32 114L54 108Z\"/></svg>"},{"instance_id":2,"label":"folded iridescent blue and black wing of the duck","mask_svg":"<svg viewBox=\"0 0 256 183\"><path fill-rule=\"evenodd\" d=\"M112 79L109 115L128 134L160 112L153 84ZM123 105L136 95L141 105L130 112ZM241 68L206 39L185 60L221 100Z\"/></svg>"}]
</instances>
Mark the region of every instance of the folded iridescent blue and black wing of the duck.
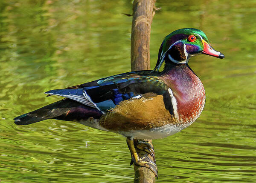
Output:
<instances>
[{"instance_id":1,"label":"folded iridescent blue and black wing of the duck","mask_svg":"<svg viewBox=\"0 0 256 183\"><path fill-rule=\"evenodd\" d=\"M114 108L122 100L140 98L143 94L164 94L168 87L156 73L137 71L105 77L66 89L50 90L58 95L94 107L101 112Z\"/></svg>"}]
</instances>

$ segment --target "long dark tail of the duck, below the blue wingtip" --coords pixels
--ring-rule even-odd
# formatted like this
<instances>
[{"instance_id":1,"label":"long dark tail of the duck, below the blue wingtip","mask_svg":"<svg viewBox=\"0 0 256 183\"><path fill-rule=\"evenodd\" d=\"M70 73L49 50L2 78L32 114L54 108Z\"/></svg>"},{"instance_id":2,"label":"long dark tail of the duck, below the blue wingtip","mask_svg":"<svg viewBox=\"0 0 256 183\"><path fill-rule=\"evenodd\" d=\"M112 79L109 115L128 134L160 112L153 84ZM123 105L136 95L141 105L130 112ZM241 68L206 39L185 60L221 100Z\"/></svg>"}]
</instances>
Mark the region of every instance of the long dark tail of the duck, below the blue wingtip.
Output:
<instances>
[{"instance_id":1,"label":"long dark tail of the duck, below the blue wingtip","mask_svg":"<svg viewBox=\"0 0 256 183\"><path fill-rule=\"evenodd\" d=\"M86 120L89 117L99 119L101 115L102 112L95 108L65 98L35 111L15 117L14 123L17 125L29 125L47 119L79 121Z\"/></svg>"}]
</instances>

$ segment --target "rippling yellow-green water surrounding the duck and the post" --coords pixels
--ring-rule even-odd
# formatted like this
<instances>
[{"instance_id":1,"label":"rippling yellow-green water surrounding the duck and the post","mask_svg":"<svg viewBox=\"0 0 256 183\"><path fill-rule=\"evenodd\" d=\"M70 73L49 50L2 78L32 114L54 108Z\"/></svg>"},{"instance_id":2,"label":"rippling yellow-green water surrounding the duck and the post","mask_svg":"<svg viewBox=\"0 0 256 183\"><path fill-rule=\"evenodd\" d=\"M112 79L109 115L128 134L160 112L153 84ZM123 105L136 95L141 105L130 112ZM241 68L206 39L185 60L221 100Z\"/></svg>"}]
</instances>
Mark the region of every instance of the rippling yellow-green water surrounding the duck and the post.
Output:
<instances>
[{"instance_id":1,"label":"rippling yellow-green water surrounding the duck and the post","mask_svg":"<svg viewBox=\"0 0 256 183\"><path fill-rule=\"evenodd\" d=\"M183 3L181 3L183 2ZM151 68L163 37L203 30L225 59L200 55L189 65L207 101L189 128L154 140L159 179L177 183L256 182L255 0L157 0ZM132 182L125 138L78 123L12 118L61 97L45 97L130 71L130 0L0 1L1 183Z\"/></svg>"}]
</instances>

